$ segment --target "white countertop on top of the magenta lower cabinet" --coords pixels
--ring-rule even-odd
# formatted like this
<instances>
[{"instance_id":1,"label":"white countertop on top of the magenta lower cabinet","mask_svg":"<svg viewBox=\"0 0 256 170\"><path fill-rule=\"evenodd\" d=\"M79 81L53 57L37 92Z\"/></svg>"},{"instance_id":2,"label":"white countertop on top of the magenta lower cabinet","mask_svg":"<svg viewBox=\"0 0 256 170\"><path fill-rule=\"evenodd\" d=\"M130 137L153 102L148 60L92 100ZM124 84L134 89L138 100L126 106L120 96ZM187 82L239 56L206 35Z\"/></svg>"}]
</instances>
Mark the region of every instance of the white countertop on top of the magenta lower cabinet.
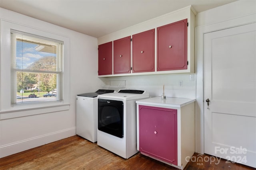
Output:
<instances>
[{"instance_id":1,"label":"white countertop on top of the magenta lower cabinet","mask_svg":"<svg viewBox=\"0 0 256 170\"><path fill-rule=\"evenodd\" d=\"M137 100L137 104L149 104L156 106L167 106L167 107L183 107L192 102L195 102L195 99L187 98L169 98L162 99L161 97L147 98L142 100Z\"/></svg>"}]
</instances>

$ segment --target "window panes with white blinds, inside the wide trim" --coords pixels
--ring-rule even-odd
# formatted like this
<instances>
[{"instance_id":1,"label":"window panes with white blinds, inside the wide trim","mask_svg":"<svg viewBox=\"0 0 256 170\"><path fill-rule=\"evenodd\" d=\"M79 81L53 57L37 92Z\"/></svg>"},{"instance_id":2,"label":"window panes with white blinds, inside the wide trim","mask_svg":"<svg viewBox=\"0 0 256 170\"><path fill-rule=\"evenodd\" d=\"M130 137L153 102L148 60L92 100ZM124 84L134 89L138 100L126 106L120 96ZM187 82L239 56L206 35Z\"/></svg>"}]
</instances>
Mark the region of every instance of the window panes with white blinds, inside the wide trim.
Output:
<instances>
[{"instance_id":1,"label":"window panes with white blinds, inside the wide trim","mask_svg":"<svg viewBox=\"0 0 256 170\"><path fill-rule=\"evenodd\" d=\"M63 41L11 29L11 104L62 101Z\"/></svg>"}]
</instances>

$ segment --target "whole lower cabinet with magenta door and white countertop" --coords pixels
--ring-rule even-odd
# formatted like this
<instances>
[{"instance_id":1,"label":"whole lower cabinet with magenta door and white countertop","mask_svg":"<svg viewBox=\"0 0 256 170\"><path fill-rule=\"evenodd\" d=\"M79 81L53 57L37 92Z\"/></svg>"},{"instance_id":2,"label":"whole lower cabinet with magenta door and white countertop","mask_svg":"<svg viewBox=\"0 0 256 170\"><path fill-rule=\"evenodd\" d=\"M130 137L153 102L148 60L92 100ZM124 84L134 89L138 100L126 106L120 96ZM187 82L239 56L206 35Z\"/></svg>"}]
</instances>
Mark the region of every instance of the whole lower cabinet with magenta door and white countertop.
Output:
<instances>
[{"instance_id":1,"label":"whole lower cabinet with magenta door and white countertop","mask_svg":"<svg viewBox=\"0 0 256 170\"><path fill-rule=\"evenodd\" d=\"M147 98L137 104L137 150L183 170L195 152L195 100Z\"/></svg>"}]
</instances>

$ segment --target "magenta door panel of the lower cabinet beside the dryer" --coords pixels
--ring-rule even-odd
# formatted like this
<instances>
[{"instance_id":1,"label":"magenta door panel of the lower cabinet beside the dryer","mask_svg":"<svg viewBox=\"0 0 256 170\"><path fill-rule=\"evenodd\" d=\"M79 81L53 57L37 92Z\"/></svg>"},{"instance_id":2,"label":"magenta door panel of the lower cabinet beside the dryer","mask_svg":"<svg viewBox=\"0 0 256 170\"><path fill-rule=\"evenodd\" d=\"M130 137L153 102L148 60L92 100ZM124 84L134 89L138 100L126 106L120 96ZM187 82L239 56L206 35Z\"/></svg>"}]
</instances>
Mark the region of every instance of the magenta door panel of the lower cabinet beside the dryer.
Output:
<instances>
[{"instance_id":1,"label":"magenta door panel of the lower cabinet beside the dryer","mask_svg":"<svg viewBox=\"0 0 256 170\"><path fill-rule=\"evenodd\" d=\"M178 165L177 110L139 105L139 150Z\"/></svg>"}]
</instances>

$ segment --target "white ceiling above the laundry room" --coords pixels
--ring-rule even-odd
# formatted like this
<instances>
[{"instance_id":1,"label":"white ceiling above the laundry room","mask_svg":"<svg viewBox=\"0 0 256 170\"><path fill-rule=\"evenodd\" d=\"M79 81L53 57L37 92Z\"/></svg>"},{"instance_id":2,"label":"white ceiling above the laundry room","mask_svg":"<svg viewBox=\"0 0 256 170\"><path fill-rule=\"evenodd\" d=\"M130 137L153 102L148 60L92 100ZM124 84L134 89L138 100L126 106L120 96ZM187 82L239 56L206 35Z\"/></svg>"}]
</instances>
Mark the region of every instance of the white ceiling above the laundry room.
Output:
<instances>
[{"instance_id":1,"label":"white ceiling above the laundry room","mask_svg":"<svg viewBox=\"0 0 256 170\"><path fill-rule=\"evenodd\" d=\"M0 7L101 37L192 5L202 12L236 0L0 0Z\"/></svg>"}]
</instances>

